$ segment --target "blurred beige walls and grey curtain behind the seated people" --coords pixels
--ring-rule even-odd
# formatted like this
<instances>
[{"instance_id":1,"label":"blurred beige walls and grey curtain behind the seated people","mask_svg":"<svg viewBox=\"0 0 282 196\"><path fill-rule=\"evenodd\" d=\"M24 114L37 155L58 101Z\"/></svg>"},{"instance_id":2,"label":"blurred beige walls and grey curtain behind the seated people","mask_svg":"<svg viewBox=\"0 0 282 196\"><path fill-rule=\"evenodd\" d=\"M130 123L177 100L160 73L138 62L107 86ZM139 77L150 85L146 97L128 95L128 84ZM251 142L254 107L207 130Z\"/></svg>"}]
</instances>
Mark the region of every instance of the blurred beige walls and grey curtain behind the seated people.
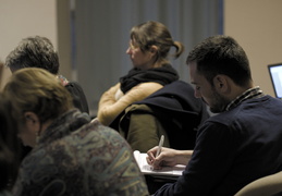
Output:
<instances>
[{"instance_id":1,"label":"blurred beige walls and grey curtain behind the seated people","mask_svg":"<svg viewBox=\"0 0 282 196\"><path fill-rule=\"evenodd\" d=\"M83 86L95 115L101 94L132 68L125 53L132 26L159 21L185 46L171 59L181 79L189 82L188 51L224 34L248 54L255 85L274 96L267 65L282 62L281 8L281 0L0 0L0 62L22 38L48 37L60 73ZM2 88L11 73L0 65L0 74Z\"/></svg>"}]
</instances>

